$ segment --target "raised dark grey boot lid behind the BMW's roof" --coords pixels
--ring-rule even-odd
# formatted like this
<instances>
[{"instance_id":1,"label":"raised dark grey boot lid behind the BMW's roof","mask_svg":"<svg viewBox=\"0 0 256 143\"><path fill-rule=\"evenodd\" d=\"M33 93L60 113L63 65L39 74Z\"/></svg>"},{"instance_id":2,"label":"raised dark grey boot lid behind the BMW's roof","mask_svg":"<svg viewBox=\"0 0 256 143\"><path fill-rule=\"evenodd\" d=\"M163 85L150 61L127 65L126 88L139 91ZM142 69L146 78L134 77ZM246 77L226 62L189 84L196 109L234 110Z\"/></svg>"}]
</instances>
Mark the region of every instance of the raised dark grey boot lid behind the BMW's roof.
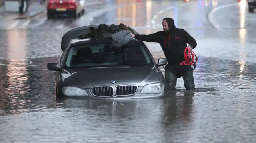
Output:
<instances>
[{"instance_id":1,"label":"raised dark grey boot lid behind the BMW's roof","mask_svg":"<svg viewBox=\"0 0 256 143\"><path fill-rule=\"evenodd\" d=\"M61 39L61 50L64 51L66 49L66 47L67 47L68 43L70 42L70 40L74 39L73 41L77 41L78 36L88 34L88 28L89 27L98 28L98 26L99 25L82 26L82 27L77 27L77 28L71 29L70 31L66 32L62 36L62 39ZM110 26L110 25L108 25L108 26ZM134 33L138 34L138 32L135 31L135 30L134 30ZM81 40L83 41L83 39L81 39ZM86 40L84 39L84 41L86 41Z\"/></svg>"}]
</instances>

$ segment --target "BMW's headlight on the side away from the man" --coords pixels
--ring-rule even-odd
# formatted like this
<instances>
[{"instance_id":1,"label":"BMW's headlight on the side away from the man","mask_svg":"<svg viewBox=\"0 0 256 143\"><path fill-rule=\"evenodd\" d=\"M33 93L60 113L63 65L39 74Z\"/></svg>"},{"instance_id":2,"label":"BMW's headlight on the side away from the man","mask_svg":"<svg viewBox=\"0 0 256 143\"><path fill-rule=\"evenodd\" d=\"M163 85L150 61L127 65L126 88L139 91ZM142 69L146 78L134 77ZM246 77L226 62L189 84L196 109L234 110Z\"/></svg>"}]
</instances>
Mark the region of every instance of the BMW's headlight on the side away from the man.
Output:
<instances>
[{"instance_id":1,"label":"BMW's headlight on the side away from the man","mask_svg":"<svg viewBox=\"0 0 256 143\"><path fill-rule=\"evenodd\" d=\"M88 96L84 89L78 87L62 87L62 93L69 97L74 96Z\"/></svg>"}]
</instances>

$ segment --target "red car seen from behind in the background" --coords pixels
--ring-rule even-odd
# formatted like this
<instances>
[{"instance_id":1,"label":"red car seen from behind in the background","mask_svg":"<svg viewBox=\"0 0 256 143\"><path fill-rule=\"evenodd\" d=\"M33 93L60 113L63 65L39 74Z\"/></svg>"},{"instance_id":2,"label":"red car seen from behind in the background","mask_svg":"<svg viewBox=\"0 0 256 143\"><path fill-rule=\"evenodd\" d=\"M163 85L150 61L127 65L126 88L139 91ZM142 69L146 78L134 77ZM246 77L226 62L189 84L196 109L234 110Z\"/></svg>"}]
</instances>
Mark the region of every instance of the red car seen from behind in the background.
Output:
<instances>
[{"instance_id":1,"label":"red car seen from behind in the background","mask_svg":"<svg viewBox=\"0 0 256 143\"><path fill-rule=\"evenodd\" d=\"M48 0L47 17L52 18L56 14L68 14L78 18L84 14L85 0Z\"/></svg>"}]
</instances>

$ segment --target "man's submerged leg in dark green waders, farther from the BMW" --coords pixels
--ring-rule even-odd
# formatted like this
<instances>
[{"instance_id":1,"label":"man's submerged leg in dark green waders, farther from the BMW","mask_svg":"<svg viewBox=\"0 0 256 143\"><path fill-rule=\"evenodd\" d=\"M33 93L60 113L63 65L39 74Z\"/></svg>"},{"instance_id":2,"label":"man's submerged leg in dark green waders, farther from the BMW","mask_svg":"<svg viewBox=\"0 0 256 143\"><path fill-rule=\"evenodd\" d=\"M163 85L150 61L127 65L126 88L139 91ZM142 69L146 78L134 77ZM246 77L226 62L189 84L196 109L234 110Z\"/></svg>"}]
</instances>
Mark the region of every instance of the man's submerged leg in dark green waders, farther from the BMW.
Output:
<instances>
[{"instance_id":1,"label":"man's submerged leg in dark green waders, farther from the BMW","mask_svg":"<svg viewBox=\"0 0 256 143\"><path fill-rule=\"evenodd\" d=\"M186 90L195 90L193 69L190 68L182 75Z\"/></svg>"}]
</instances>

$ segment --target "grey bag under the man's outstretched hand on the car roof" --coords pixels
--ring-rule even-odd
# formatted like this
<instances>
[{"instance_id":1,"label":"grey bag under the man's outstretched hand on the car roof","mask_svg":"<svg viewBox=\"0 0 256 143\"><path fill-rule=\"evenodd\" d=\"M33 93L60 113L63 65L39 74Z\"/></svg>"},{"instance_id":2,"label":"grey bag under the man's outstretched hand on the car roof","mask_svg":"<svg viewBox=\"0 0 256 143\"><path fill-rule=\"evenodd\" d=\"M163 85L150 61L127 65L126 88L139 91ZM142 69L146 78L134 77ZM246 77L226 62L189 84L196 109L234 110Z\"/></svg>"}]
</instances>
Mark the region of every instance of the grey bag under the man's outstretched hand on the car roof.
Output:
<instances>
[{"instance_id":1,"label":"grey bag under the man's outstretched hand on the car roof","mask_svg":"<svg viewBox=\"0 0 256 143\"><path fill-rule=\"evenodd\" d=\"M131 40L130 31L119 31L111 35L111 45L113 48L119 48L128 43Z\"/></svg>"}]
</instances>

